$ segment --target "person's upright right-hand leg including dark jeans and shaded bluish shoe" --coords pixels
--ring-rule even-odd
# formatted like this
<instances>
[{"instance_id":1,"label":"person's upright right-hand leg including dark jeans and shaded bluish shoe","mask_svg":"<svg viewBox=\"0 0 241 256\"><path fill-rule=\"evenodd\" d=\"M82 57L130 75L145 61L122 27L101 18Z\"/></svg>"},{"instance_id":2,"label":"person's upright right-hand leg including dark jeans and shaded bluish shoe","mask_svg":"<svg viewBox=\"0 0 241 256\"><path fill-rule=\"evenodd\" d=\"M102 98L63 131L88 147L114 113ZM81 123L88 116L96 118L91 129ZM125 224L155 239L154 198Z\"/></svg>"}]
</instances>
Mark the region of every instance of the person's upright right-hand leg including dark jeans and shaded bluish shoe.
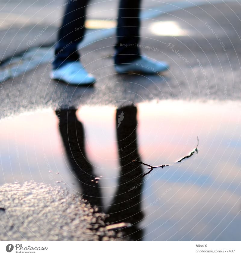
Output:
<instances>
[{"instance_id":1,"label":"person's upright right-hand leg including dark jeans and shaded bluish shoe","mask_svg":"<svg viewBox=\"0 0 241 256\"><path fill-rule=\"evenodd\" d=\"M140 4L141 0L120 0L114 57L117 73L158 74L168 69L167 63L140 54Z\"/></svg>"}]
</instances>

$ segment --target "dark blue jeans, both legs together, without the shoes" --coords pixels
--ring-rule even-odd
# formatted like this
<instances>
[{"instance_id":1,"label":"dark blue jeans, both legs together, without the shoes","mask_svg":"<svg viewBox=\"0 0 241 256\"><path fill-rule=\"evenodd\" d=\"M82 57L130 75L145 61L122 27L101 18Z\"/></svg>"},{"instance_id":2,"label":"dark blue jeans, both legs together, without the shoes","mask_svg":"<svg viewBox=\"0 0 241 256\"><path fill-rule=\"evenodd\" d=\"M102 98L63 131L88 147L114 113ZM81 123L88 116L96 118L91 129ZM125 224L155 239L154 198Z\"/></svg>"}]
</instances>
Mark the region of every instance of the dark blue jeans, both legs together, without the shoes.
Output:
<instances>
[{"instance_id":1,"label":"dark blue jeans, both legs together, without the shoes","mask_svg":"<svg viewBox=\"0 0 241 256\"><path fill-rule=\"evenodd\" d=\"M84 36L88 2L88 0L70 0L65 7L65 15L55 46L54 69L80 58L77 46ZM115 64L123 64L139 58L140 52L137 44L139 43L140 2L141 0L120 0Z\"/></svg>"}]
</instances>

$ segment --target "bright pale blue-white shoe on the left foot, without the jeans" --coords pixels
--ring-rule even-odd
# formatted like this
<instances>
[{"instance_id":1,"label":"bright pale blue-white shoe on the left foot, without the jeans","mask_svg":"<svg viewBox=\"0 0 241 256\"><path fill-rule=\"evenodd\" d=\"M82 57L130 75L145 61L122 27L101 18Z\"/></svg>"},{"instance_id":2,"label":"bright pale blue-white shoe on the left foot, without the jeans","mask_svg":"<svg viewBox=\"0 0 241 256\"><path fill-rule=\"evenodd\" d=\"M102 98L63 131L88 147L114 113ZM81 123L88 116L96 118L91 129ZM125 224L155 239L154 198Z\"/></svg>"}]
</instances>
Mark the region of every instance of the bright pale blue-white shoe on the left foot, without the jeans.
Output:
<instances>
[{"instance_id":1,"label":"bright pale blue-white shoe on the left foot, without the jeans","mask_svg":"<svg viewBox=\"0 0 241 256\"><path fill-rule=\"evenodd\" d=\"M53 69L50 78L74 85L93 84L96 81L79 61L68 62L57 69Z\"/></svg>"}]
</instances>

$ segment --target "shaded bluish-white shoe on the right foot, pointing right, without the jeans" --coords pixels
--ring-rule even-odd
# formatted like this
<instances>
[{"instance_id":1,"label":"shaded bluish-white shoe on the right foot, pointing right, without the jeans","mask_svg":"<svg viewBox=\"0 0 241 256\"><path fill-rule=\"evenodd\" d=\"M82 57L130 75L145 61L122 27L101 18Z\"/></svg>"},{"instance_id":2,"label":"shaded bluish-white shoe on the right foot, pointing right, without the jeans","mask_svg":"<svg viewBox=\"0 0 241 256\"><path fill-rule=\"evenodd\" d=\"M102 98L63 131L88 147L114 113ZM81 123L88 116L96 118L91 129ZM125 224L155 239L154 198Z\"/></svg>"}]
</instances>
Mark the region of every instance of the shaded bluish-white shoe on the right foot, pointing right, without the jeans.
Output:
<instances>
[{"instance_id":1,"label":"shaded bluish-white shoe on the right foot, pointing right, without the jeans","mask_svg":"<svg viewBox=\"0 0 241 256\"><path fill-rule=\"evenodd\" d=\"M157 74L169 68L165 62L153 61L145 56L129 62L127 64L115 64L117 73L142 73L142 74Z\"/></svg>"}]
</instances>

